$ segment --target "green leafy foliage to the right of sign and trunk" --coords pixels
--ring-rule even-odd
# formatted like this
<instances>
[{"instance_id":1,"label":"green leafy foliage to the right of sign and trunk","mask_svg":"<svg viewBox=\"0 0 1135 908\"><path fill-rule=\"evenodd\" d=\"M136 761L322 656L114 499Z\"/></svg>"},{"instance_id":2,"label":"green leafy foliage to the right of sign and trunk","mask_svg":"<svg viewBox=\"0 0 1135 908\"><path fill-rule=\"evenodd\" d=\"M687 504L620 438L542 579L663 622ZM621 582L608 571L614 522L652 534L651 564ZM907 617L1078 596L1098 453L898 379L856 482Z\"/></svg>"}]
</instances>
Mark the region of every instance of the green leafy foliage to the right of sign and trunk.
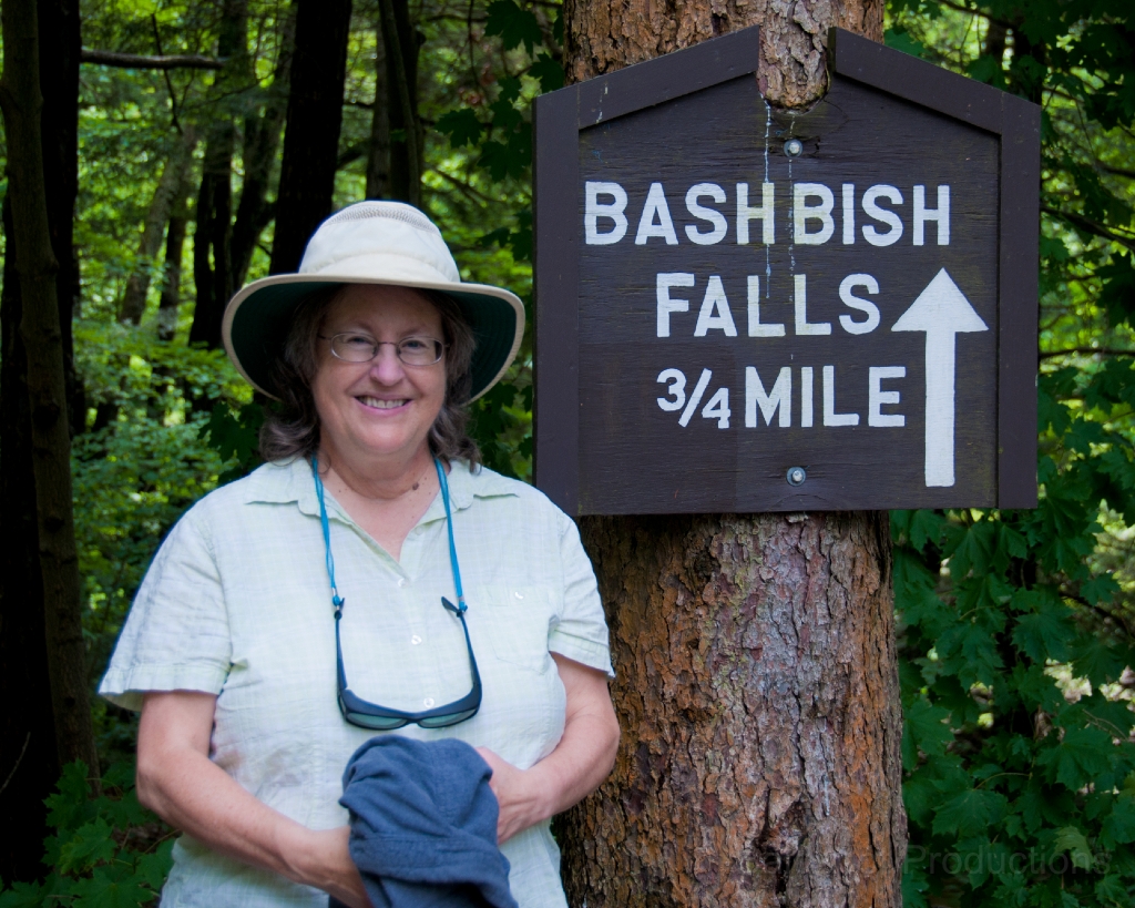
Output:
<instances>
[{"instance_id":1,"label":"green leafy foliage to the right of sign and trunk","mask_svg":"<svg viewBox=\"0 0 1135 908\"><path fill-rule=\"evenodd\" d=\"M1132 12L890 6L892 47L1044 104L1039 506L892 514L907 908L1135 896Z\"/></svg>"}]
</instances>

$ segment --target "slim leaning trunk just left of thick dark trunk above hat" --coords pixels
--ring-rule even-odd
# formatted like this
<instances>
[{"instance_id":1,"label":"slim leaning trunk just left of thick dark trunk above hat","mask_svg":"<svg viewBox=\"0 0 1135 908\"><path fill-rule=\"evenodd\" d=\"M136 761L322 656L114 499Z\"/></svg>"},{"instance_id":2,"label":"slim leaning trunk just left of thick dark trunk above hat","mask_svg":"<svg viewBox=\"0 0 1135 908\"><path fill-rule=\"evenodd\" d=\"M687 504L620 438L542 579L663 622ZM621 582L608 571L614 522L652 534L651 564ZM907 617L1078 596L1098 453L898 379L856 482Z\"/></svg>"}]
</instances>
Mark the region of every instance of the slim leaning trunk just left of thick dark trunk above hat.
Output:
<instances>
[{"instance_id":1,"label":"slim leaning trunk just left of thick dark trunk above hat","mask_svg":"<svg viewBox=\"0 0 1135 908\"><path fill-rule=\"evenodd\" d=\"M287 116L292 57L295 49L296 8L293 5L284 20L280 54L276 61L272 84L266 92L260 116L244 121L244 187L233 225L233 286L239 287L249 274L252 253L260 234L271 222L274 207L268 202L268 186L279 150L280 134Z\"/></svg>"}]
</instances>

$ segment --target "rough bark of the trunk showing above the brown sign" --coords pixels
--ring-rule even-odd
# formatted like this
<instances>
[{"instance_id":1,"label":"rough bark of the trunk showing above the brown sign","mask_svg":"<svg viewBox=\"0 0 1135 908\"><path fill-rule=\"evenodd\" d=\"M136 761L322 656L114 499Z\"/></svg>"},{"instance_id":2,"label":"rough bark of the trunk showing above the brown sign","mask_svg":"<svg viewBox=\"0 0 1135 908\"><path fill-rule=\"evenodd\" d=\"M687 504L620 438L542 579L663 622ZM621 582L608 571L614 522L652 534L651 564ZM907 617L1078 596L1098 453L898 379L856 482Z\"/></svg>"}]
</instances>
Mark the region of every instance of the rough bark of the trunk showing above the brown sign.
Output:
<instances>
[{"instance_id":1,"label":"rough bark of the trunk showing above the brown sign","mask_svg":"<svg viewBox=\"0 0 1135 908\"><path fill-rule=\"evenodd\" d=\"M582 82L759 25L757 81L774 107L806 107L827 85L833 25L883 40L883 0L564 0L564 68Z\"/></svg>"}]
</instances>

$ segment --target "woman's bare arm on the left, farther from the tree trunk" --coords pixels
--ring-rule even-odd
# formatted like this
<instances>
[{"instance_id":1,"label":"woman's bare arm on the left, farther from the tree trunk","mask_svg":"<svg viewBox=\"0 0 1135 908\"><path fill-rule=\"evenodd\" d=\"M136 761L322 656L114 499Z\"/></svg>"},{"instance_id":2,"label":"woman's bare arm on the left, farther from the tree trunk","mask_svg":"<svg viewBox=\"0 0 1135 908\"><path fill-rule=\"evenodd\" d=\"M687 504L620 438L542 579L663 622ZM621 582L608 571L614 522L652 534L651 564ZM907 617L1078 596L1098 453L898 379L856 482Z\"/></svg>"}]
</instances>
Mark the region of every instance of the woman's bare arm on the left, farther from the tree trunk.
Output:
<instances>
[{"instance_id":1,"label":"woman's bare arm on the left, farther from the tree trunk","mask_svg":"<svg viewBox=\"0 0 1135 908\"><path fill-rule=\"evenodd\" d=\"M148 693L138 728L138 800L216 851L369 908L350 830L313 831L257 800L209 759L217 697Z\"/></svg>"}]
</instances>

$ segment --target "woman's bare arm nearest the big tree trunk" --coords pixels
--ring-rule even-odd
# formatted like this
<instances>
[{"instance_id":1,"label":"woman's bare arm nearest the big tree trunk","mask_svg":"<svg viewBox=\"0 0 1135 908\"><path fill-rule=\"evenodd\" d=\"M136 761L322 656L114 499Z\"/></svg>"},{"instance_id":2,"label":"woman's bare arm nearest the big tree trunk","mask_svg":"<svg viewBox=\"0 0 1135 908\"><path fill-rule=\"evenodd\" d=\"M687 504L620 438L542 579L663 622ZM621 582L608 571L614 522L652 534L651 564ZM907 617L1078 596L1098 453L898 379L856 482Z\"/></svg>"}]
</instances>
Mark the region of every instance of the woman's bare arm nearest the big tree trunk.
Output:
<instances>
[{"instance_id":1,"label":"woman's bare arm nearest the big tree trunk","mask_svg":"<svg viewBox=\"0 0 1135 908\"><path fill-rule=\"evenodd\" d=\"M552 658L568 693L564 734L556 749L532 768L518 770L488 748L477 748L493 767L489 785L501 804L501 842L583 800L615 765L619 721L607 676L557 653Z\"/></svg>"}]
</instances>

